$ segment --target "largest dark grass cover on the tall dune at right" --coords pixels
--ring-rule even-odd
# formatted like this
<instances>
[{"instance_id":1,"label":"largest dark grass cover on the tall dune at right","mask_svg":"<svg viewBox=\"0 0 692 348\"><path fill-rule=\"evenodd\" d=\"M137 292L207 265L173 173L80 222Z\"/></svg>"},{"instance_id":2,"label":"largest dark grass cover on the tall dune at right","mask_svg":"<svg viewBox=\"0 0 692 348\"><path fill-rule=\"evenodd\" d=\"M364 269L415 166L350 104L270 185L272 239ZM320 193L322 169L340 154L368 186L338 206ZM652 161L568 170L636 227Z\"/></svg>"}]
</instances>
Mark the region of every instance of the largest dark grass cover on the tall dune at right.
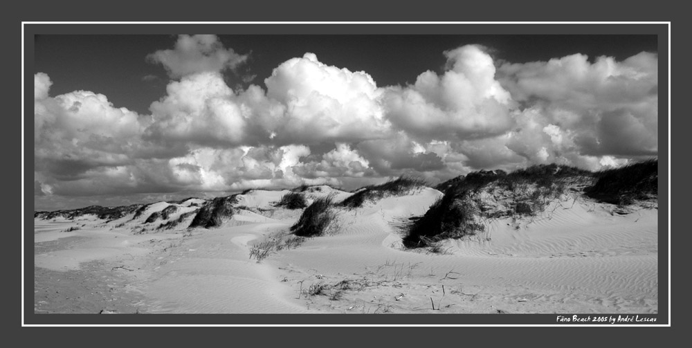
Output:
<instances>
[{"instance_id":1,"label":"largest dark grass cover on the tall dune at right","mask_svg":"<svg viewBox=\"0 0 692 348\"><path fill-rule=\"evenodd\" d=\"M596 173L556 164L534 165L511 173L472 172L436 186L444 196L424 216L403 227L403 245L431 247L442 239L475 235L484 230L477 222L484 219L536 216L550 201L567 192L570 183L579 183L585 187L584 194L597 201L628 205L655 197L657 179L657 160ZM483 190L504 200L504 210L489 208L480 198Z\"/></svg>"}]
</instances>

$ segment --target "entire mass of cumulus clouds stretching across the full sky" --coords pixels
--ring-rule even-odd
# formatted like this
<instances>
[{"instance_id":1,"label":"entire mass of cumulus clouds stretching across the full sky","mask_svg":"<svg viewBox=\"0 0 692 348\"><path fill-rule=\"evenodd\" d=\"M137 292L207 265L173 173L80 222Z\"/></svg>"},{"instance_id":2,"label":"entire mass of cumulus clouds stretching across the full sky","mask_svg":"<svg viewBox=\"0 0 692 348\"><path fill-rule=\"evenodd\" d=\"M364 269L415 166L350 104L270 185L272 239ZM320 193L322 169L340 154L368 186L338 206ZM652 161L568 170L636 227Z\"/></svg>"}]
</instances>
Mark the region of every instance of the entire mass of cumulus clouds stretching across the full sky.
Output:
<instances>
[{"instance_id":1,"label":"entire mass of cumulus clouds stretching across the full sky","mask_svg":"<svg viewBox=\"0 0 692 348\"><path fill-rule=\"evenodd\" d=\"M494 62L444 52L442 73L377 86L312 53L257 85L221 74L246 61L213 35L149 55L171 80L150 114L105 95L51 97L35 74L35 196L230 192L303 183L353 189L412 174L431 183L538 163L590 170L657 154L657 56Z\"/></svg>"}]
</instances>

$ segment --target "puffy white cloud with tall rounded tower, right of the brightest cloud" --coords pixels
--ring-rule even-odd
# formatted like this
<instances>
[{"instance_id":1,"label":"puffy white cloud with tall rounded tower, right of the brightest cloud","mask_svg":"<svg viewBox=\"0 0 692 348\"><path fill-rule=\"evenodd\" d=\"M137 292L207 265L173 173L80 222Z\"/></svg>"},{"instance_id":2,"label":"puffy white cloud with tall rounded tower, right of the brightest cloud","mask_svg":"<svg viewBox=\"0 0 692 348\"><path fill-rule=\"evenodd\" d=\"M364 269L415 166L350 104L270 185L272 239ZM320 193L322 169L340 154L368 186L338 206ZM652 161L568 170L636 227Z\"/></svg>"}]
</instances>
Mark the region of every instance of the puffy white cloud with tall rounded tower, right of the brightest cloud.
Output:
<instances>
[{"instance_id":1,"label":"puffy white cloud with tall rounded tower, right of the brightest cloud","mask_svg":"<svg viewBox=\"0 0 692 348\"><path fill-rule=\"evenodd\" d=\"M495 80L493 59L475 45L444 54L448 70L443 75L426 71L412 86L387 89L388 119L428 139L484 138L507 131L512 102Z\"/></svg>"}]
</instances>

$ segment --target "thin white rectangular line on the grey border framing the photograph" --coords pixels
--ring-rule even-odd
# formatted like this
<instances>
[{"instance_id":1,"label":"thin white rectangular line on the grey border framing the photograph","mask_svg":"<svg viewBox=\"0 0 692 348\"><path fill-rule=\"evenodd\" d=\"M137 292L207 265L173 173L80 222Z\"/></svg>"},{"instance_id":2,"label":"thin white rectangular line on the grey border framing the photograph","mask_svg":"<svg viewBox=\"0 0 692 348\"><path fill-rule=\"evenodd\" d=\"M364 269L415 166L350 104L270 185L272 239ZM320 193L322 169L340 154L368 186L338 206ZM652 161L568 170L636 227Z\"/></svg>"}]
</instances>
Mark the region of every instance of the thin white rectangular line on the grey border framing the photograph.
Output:
<instances>
[{"instance_id":1,"label":"thin white rectangular line on the grey border framing the photograph","mask_svg":"<svg viewBox=\"0 0 692 348\"><path fill-rule=\"evenodd\" d=\"M671 21L21 21L21 326L27 327L603 327L601 324L26 324L24 322L24 26L28 24L666 24L668 26L668 324L640 324L639 327L670 327L671 315ZM632 325L610 324L615 327Z\"/></svg>"}]
</instances>

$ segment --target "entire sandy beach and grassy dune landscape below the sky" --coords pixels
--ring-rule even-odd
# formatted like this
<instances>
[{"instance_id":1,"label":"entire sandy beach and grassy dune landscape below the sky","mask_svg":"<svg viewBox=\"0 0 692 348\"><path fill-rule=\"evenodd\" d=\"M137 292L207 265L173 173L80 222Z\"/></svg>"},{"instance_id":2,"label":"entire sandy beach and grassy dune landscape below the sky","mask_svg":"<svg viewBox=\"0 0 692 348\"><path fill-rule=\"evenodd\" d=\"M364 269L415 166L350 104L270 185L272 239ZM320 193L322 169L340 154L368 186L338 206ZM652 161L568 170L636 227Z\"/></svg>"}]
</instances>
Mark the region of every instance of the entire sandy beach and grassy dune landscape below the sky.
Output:
<instances>
[{"instance_id":1,"label":"entire sandy beach and grassy dune landscape below the sky","mask_svg":"<svg viewBox=\"0 0 692 348\"><path fill-rule=\"evenodd\" d=\"M657 313L657 166L35 212L35 311Z\"/></svg>"}]
</instances>

